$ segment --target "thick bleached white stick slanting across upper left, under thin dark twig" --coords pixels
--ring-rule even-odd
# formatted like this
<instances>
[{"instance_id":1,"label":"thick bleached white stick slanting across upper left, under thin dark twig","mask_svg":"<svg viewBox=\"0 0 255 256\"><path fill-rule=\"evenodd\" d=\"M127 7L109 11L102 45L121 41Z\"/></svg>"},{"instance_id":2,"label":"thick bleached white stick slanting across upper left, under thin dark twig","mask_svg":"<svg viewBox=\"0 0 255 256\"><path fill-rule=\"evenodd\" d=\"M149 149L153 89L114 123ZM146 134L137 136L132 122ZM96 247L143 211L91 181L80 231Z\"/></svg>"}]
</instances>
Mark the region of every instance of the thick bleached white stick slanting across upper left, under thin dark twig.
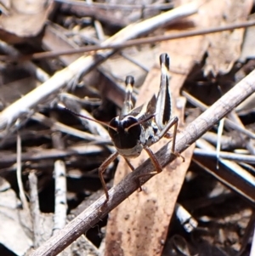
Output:
<instances>
[{"instance_id":1,"label":"thick bleached white stick slanting across upper left, under thin dark twig","mask_svg":"<svg viewBox=\"0 0 255 256\"><path fill-rule=\"evenodd\" d=\"M107 39L102 43L102 46L123 43L129 39L139 37L144 33L156 30L159 26L164 26L169 22L195 14L198 8L199 6L196 3L188 3L151 19L127 26L113 37ZM11 133L12 131L9 127L19 117L24 117L28 112L34 110L39 103L57 94L59 89L64 88L67 83L76 81L79 77L91 71L95 65L99 65L112 54L115 54L115 52L115 50L107 50L99 51L97 54L87 57L82 56L64 70L56 72L47 82L42 83L41 86L26 94L20 100L15 101L14 104L9 105L0 113L0 131L5 129L3 135Z\"/></svg>"}]
</instances>

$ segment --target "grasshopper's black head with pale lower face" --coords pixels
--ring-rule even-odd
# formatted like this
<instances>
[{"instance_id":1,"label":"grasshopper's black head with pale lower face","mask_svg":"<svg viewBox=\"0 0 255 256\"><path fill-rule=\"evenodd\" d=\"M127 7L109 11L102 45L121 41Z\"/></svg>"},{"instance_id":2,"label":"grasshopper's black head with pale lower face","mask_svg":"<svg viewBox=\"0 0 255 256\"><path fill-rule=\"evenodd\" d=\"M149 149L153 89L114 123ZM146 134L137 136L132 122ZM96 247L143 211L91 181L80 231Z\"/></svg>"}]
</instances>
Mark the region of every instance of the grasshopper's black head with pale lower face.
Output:
<instances>
[{"instance_id":1,"label":"grasshopper's black head with pale lower face","mask_svg":"<svg viewBox=\"0 0 255 256\"><path fill-rule=\"evenodd\" d=\"M109 134L116 150L125 157L137 157L143 149L140 144L141 125L132 116L120 119L115 117L110 122Z\"/></svg>"}]
</instances>

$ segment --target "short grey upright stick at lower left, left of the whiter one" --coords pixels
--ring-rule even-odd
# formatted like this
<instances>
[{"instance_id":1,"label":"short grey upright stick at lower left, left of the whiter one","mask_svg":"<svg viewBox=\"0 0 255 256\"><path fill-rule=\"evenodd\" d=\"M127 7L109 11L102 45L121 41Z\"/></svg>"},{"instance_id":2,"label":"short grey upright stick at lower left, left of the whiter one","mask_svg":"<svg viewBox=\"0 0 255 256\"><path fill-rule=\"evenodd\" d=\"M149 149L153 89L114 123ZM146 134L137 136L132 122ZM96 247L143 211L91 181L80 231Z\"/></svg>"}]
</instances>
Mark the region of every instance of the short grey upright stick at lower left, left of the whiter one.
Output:
<instances>
[{"instance_id":1,"label":"short grey upright stick at lower left, left of the whiter one","mask_svg":"<svg viewBox=\"0 0 255 256\"><path fill-rule=\"evenodd\" d=\"M33 224L33 245L35 248L40 246L41 238L41 226L40 226L40 209L37 189L37 175L34 171L28 175L29 188L30 188L30 208L31 208L31 220Z\"/></svg>"}]
</instances>

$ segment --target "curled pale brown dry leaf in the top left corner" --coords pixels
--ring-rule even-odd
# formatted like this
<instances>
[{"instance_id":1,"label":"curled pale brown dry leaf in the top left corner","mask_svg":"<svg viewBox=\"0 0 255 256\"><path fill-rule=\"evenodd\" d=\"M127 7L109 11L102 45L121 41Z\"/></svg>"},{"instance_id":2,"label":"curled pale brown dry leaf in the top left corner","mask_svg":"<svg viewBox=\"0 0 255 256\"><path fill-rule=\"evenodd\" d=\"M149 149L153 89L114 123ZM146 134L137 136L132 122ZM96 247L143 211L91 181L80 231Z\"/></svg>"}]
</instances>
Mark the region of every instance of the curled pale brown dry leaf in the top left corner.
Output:
<instances>
[{"instance_id":1,"label":"curled pale brown dry leaf in the top left corner","mask_svg":"<svg viewBox=\"0 0 255 256\"><path fill-rule=\"evenodd\" d=\"M53 7L53 1L12 0L0 17L0 39L20 43L23 37L34 37L41 30Z\"/></svg>"}]
</instances>

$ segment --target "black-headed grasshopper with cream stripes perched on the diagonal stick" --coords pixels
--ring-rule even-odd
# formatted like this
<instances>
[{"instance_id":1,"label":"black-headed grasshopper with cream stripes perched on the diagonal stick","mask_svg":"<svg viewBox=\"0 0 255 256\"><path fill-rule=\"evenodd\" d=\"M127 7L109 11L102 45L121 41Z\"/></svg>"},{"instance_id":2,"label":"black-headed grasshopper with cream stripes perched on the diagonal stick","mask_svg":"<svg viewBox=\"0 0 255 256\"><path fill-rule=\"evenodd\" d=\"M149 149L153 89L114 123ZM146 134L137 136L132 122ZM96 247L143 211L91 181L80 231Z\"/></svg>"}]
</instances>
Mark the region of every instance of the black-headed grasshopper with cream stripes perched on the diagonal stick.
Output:
<instances>
[{"instance_id":1,"label":"black-headed grasshopper with cream stripes perched on the diagonal stick","mask_svg":"<svg viewBox=\"0 0 255 256\"><path fill-rule=\"evenodd\" d=\"M144 149L150 156L150 160L155 167L155 171L151 172L150 174L159 174L162 171L161 164L156 159L155 154L150 150L150 145L155 144L162 137L169 137L167 132L170 128L174 127L172 153L176 156L180 156L175 152L175 138L178 128L178 117L171 118L168 54L160 55L160 63L161 84L157 97L154 95L146 104L133 108L131 98L134 80L133 77L127 76L125 81L125 100L121 114L118 117L114 117L110 124L107 125L112 143L116 147L116 152L111 154L111 156L109 156L99 167L99 178L105 191L106 202L109 200L109 194L103 174L105 169L116 159L118 155L122 155L129 168L134 170L132 164L129 162L129 159L139 156L141 151ZM79 114L73 114L81 117ZM84 118L94 122L99 122L92 118ZM103 124L105 125L105 123Z\"/></svg>"}]
</instances>

